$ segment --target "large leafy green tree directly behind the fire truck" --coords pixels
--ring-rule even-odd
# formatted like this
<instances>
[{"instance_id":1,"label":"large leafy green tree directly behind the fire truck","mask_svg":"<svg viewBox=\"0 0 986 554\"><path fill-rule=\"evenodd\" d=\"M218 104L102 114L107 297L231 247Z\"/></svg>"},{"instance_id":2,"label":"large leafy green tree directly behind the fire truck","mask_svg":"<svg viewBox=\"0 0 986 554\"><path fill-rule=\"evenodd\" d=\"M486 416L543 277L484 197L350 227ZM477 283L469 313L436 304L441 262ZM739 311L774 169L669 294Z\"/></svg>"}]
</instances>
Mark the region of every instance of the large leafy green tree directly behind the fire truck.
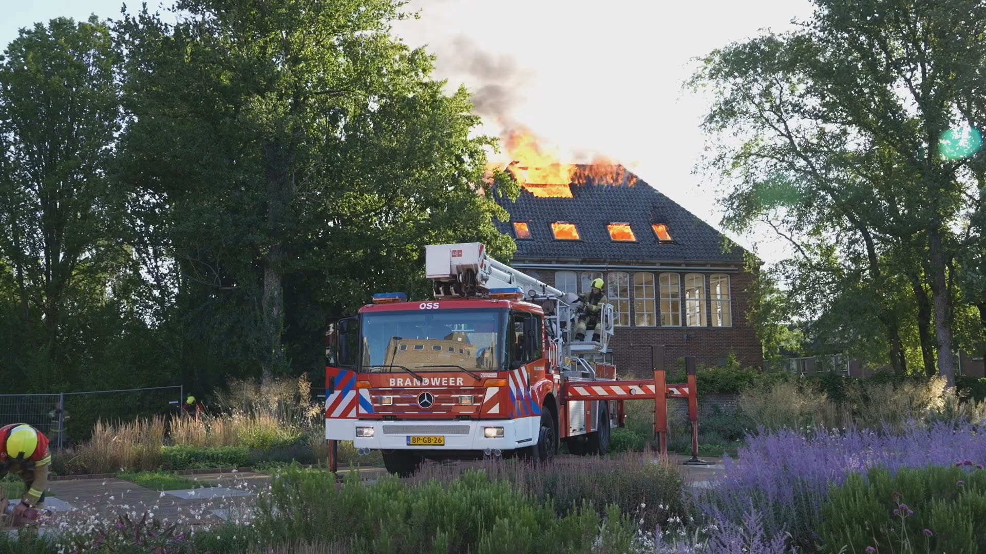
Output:
<instances>
[{"instance_id":1,"label":"large leafy green tree directly behind the fire truck","mask_svg":"<svg viewBox=\"0 0 986 554\"><path fill-rule=\"evenodd\" d=\"M265 378L289 354L323 367L327 317L420 287L424 244L512 254L492 224L506 212L483 178L489 141L468 136L466 93L445 96L433 59L388 35L401 5L181 0L174 26L146 8L118 26L119 177L160 222L142 248L174 256L183 334L204 338L193 356Z\"/></svg>"}]
</instances>

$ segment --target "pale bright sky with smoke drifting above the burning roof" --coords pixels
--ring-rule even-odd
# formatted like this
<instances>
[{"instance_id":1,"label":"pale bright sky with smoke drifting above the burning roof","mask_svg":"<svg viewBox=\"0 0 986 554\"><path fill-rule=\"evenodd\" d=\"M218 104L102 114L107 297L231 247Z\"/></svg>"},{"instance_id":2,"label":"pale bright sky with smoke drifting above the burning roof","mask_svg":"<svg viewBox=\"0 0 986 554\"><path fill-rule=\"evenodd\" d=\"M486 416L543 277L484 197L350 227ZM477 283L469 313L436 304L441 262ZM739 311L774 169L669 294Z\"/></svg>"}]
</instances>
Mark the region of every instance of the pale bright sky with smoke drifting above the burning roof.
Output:
<instances>
[{"instance_id":1,"label":"pale bright sky with smoke drifting above the burning roof","mask_svg":"<svg viewBox=\"0 0 986 554\"><path fill-rule=\"evenodd\" d=\"M168 2L170 4L170 1ZM120 0L0 0L0 44L54 17L117 18ZM161 5L151 0L148 5ZM563 163L602 155L720 229L716 175L693 173L708 99L682 88L694 58L810 16L807 0L411 0L395 35L437 55L436 76L477 94L484 133L523 125ZM139 9L131 1L127 10ZM727 234L768 264L789 253L759 231Z\"/></svg>"}]
</instances>

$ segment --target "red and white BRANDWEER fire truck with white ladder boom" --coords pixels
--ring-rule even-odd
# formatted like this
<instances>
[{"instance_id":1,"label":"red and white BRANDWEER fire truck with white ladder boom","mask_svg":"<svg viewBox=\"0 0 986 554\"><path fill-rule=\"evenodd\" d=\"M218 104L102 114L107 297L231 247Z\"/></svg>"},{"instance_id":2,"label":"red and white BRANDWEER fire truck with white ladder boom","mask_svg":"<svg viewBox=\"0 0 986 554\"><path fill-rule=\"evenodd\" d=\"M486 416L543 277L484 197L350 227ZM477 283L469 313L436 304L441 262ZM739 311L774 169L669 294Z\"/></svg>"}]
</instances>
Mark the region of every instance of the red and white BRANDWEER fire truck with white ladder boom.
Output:
<instances>
[{"instance_id":1,"label":"red and white BRANDWEER fire truck with white ladder boom","mask_svg":"<svg viewBox=\"0 0 986 554\"><path fill-rule=\"evenodd\" d=\"M424 459L548 460L562 442L604 453L617 406L599 385L616 372L594 359L612 337L612 306L576 342L585 298L494 260L479 242L428 245L425 257L434 299L377 294L330 329L325 438L382 450L398 475ZM654 397L653 386L630 388L620 392Z\"/></svg>"}]
</instances>

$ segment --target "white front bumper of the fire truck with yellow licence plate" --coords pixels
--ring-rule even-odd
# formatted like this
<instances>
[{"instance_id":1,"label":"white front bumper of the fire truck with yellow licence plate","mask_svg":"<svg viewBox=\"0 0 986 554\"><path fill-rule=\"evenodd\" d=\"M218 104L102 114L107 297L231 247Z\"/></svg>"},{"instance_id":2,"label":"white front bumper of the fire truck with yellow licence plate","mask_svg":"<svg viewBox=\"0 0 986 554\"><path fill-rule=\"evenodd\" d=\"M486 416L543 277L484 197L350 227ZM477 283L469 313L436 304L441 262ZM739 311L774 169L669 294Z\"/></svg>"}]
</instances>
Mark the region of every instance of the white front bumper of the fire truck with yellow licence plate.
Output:
<instances>
[{"instance_id":1,"label":"white front bumper of the fire truck with yellow licence plate","mask_svg":"<svg viewBox=\"0 0 986 554\"><path fill-rule=\"evenodd\" d=\"M372 427L373 437L355 437L355 428ZM503 437L486 438L483 428L503 427ZM539 417L479 421L356 421L353 447L373 450L515 450L537 441ZM444 446L410 446L408 437L444 437Z\"/></svg>"}]
</instances>

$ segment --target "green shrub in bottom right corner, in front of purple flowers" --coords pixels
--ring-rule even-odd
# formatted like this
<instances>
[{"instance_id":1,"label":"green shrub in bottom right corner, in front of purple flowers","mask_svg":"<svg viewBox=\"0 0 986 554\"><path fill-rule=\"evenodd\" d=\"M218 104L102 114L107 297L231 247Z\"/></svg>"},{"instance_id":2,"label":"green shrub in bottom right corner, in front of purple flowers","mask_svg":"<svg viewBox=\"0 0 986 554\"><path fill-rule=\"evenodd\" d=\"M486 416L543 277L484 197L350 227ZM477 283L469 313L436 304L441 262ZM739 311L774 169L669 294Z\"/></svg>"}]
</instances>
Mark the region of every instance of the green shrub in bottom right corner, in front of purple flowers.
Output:
<instances>
[{"instance_id":1,"label":"green shrub in bottom right corner, in front of purple flowers","mask_svg":"<svg viewBox=\"0 0 986 554\"><path fill-rule=\"evenodd\" d=\"M960 462L961 463L961 462ZM981 466L980 466L981 467ZM851 475L822 509L821 536L829 551L867 547L901 552L983 552L986 471L959 467L884 468ZM926 531L927 529L927 531Z\"/></svg>"}]
</instances>

